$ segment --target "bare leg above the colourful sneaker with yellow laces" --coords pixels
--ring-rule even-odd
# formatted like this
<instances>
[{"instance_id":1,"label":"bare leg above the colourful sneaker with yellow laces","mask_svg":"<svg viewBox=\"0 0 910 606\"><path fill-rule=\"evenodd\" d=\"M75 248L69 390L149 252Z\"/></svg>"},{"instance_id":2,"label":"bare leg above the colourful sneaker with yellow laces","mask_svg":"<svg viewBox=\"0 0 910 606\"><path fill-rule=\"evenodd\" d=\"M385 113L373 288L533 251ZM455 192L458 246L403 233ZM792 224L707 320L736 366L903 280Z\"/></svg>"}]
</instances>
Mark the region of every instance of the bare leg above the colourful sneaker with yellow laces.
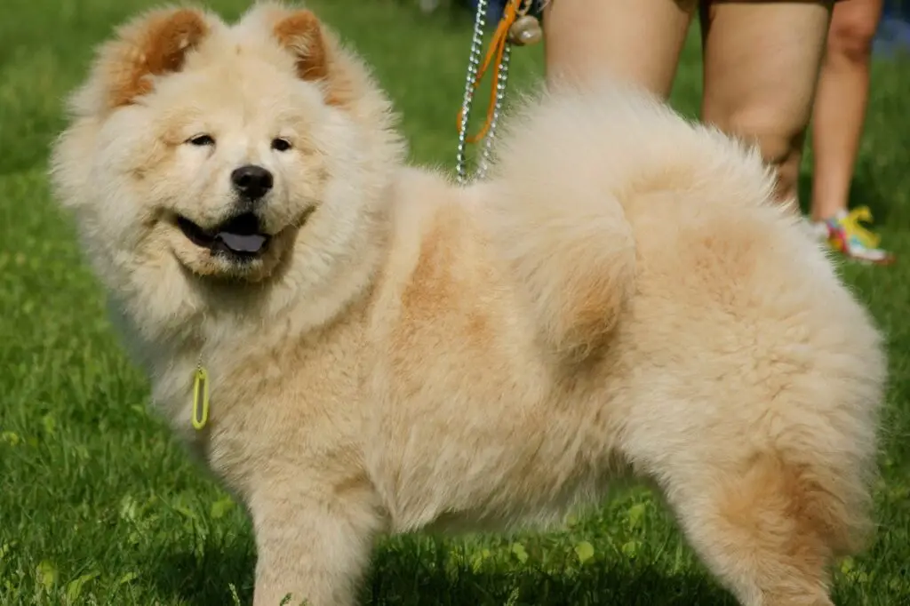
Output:
<instances>
[{"instance_id":1,"label":"bare leg above the colourful sneaker with yellow laces","mask_svg":"<svg viewBox=\"0 0 910 606\"><path fill-rule=\"evenodd\" d=\"M834 5L813 114L812 217L847 208L869 96L869 62L882 0Z\"/></svg>"}]
</instances>

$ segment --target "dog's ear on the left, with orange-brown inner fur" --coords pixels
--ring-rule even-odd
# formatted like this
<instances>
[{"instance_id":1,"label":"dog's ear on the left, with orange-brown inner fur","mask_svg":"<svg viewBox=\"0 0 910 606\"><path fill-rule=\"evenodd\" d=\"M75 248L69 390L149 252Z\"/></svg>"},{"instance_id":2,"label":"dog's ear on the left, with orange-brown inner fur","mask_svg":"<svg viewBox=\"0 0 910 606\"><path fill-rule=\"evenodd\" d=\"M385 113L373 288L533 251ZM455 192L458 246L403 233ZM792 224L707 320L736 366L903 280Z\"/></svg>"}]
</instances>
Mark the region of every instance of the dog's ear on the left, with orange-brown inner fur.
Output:
<instances>
[{"instance_id":1,"label":"dog's ear on the left, with orange-brown inner fur","mask_svg":"<svg viewBox=\"0 0 910 606\"><path fill-rule=\"evenodd\" d=\"M120 28L116 40L105 45L97 58L102 90L96 91L108 109L133 103L151 92L151 76L183 68L187 53L210 31L202 11L192 8L158 10Z\"/></svg>"}]
</instances>

